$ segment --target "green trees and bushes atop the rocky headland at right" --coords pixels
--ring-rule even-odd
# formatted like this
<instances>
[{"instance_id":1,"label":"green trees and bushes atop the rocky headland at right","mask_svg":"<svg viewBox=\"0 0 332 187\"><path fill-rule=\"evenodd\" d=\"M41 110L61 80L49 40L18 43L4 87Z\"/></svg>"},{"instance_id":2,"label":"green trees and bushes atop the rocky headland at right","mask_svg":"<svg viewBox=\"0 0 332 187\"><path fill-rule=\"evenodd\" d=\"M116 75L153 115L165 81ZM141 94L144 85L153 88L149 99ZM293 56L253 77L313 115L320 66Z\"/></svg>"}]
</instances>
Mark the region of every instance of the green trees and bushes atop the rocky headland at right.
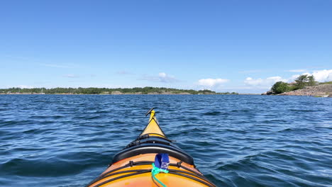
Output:
<instances>
[{"instance_id":1,"label":"green trees and bushes atop the rocky headland at right","mask_svg":"<svg viewBox=\"0 0 332 187\"><path fill-rule=\"evenodd\" d=\"M315 81L314 75L302 74L293 83L286 83L283 81L277 81L273 84L271 91L273 94L282 94L287 91L293 91L297 89L303 89L304 86L316 86L319 82Z\"/></svg>"}]
</instances>

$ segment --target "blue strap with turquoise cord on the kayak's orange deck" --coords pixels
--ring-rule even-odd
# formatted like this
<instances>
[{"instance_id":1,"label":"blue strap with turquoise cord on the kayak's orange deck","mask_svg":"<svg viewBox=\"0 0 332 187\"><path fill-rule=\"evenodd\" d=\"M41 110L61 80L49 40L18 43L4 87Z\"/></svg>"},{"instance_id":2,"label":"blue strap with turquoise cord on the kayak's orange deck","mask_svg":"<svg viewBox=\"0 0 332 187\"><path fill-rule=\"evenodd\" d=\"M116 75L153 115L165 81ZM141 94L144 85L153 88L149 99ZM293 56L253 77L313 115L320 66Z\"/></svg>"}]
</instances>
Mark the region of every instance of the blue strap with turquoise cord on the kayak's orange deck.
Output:
<instances>
[{"instance_id":1,"label":"blue strap with turquoise cord on the kayak's orange deck","mask_svg":"<svg viewBox=\"0 0 332 187\"><path fill-rule=\"evenodd\" d=\"M151 170L151 174L153 179L160 183L163 187L167 187L164 183L159 181L155 175L159 174L160 172L164 172L165 174L168 173L168 165L170 164L170 157L168 157L167 153L160 153L155 155L155 163L153 163L153 169Z\"/></svg>"}]
</instances>

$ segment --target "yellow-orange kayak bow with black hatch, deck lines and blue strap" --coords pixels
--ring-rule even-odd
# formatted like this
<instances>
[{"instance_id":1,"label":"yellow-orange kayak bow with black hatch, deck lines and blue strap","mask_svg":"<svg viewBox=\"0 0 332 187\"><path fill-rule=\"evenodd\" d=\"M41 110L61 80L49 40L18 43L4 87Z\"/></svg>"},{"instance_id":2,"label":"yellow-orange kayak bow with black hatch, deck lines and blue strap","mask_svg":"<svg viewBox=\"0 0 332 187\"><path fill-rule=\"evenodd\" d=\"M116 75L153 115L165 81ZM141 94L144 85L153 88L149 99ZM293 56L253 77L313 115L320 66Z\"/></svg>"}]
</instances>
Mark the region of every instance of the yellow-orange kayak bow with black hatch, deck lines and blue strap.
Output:
<instances>
[{"instance_id":1,"label":"yellow-orange kayak bow with black hatch, deck lines and blue strap","mask_svg":"<svg viewBox=\"0 0 332 187\"><path fill-rule=\"evenodd\" d=\"M168 140L155 118L154 108L143 132L116 155L109 168L87 186L209 186L194 159Z\"/></svg>"}]
</instances>

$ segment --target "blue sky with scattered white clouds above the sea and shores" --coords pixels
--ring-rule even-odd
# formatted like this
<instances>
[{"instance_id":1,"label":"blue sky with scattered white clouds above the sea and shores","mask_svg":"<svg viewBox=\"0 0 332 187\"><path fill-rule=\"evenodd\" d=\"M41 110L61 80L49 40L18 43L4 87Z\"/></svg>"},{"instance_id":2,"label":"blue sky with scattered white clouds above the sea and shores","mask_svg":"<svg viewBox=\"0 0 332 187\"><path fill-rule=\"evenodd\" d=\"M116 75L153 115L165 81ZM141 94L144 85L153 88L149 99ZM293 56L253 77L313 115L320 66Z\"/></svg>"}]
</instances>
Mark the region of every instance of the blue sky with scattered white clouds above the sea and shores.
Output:
<instances>
[{"instance_id":1,"label":"blue sky with scattered white clouds above the sea and shores","mask_svg":"<svg viewBox=\"0 0 332 187\"><path fill-rule=\"evenodd\" d=\"M332 1L2 1L0 88L332 81Z\"/></svg>"}]
</instances>

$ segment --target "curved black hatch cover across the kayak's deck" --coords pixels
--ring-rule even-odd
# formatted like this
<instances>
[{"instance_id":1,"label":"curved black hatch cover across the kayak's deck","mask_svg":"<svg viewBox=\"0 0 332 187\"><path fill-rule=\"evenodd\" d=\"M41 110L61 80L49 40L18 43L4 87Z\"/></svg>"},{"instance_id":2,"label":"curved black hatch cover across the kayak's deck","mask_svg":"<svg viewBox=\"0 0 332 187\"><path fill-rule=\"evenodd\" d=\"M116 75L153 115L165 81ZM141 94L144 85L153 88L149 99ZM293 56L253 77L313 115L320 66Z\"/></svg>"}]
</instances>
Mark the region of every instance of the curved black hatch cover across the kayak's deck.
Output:
<instances>
[{"instance_id":1,"label":"curved black hatch cover across the kayak's deck","mask_svg":"<svg viewBox=\"0 0 332 187\"><path fill-rule=\"evenodd\" d=\"M131 142L125 149L114 155L112 163L116 163L122 159L134 157L139 154L148 153L167 153L170 157L182 160L187 164L194 165L194 159L184 152L182 149L177 147L174 143L170 142L162 137L145 137L144 139L135 140Z\"/></svg>"}]
</instances>

